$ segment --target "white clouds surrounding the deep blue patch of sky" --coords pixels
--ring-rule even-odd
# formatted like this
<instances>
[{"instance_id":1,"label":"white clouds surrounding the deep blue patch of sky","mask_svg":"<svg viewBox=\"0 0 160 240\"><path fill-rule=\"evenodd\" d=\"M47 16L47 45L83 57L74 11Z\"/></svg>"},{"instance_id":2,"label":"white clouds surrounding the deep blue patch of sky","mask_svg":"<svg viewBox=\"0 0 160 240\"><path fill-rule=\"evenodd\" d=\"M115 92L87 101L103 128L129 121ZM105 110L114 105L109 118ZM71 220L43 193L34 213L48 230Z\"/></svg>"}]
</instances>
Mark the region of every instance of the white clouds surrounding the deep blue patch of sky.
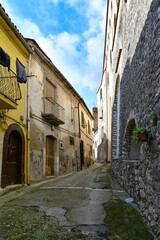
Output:
<instances>
[{"instance_id":1,"label":"white clouds surrounding the deep blue patch of sky","mask_svg":"<svg viewBox=\"0 0 160 240\"><path fill-rule=\"evenodd\" d=\"M64 1L85 14L88 29L82 35L61 32L45 36L31 19L17 16L7 0L1 0L7 13L20 32L37 41L43 51L76 89L98 89L101 80L106 0L52 0ZM84 8L85 6L85 8Z\"/></svg>"}]
</instances>

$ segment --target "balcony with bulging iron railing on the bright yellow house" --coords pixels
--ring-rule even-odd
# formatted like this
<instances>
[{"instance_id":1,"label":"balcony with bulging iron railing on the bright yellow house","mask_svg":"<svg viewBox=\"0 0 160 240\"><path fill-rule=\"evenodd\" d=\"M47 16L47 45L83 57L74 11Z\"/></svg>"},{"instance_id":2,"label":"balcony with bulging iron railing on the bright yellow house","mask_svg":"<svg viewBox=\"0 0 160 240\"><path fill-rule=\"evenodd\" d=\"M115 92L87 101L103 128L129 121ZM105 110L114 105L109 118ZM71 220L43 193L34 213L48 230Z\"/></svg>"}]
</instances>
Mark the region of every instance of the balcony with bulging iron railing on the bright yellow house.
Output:
<instances>
[{"instance_id":1,"label":"balcony with bulging iron railing on the bright yellow house","mask_svg":"<svg viewBox=\"0 0 160 240\"><path fill-rule=\"evenodd\" d=\"M16 74L0 65L0 109L16 109L21 90Z\"/></svg>"}]
</instances>

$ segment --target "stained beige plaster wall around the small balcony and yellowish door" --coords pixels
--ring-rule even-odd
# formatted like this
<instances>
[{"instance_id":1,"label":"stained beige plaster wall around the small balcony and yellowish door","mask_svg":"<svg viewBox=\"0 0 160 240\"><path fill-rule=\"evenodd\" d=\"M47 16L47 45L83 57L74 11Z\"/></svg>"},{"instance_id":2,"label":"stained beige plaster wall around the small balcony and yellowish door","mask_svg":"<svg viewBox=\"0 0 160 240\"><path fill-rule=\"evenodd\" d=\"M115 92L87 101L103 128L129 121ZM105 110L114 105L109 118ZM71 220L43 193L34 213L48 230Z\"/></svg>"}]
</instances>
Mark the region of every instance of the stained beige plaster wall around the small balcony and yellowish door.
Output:
<instances>
[{"instance_id":1,"label":"stained beige plaster wall around the small balcony and yellowish door","mask_svg":"<svg viewBox=\"0 0 160 240\"><path fill-rule=\"evenodd\" d=\"M32 45L34 42L29 41ZM48 62L42 61L39 48L30 60L30 70L34 75L30 80L30 179L40 181L46 177L46 137L54 140L54 175L76 170L79 159L78 96L61 75ZM55 86L55 101L64 108L64 124L51 126L42 117L46 78ZM61 79L62 78L62 79ZM70 137L74 144L70 144ZM53 168L52 168L53 169Z\"/></svg>"}]
</instances>

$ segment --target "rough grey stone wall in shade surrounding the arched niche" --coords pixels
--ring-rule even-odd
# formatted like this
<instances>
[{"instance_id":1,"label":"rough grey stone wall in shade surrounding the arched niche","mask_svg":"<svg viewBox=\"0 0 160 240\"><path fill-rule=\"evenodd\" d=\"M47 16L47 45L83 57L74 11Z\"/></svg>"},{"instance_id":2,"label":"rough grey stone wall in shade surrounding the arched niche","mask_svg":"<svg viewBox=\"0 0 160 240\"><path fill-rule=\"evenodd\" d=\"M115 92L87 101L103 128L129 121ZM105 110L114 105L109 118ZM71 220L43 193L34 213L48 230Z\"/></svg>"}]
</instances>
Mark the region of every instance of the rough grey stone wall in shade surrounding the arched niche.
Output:
<instances>
[{"instance_id":1,"label":"rough grey stone wall in shade surrounding the arched niche","mask_svg":"<svg viewBox=\"0 0 160 240\"><path fill-rule=\"evenodd\" d=\"M133 1L133 3L136 1ZM142 1L143 2L143 1ZM132 23L138 28L140 22L134 19L138 13L136 5ZM139 12L139 14L141 14ZM139 20L141 19L141 15ZM134 22L135 20L135 22ZM128 19L130 24L130 19ZM123 26L124 27L124 26ZM130 39L126 33L125 38ZM133 29L132 29L133 30ZM123 35L124 36L124 35ZM136 36L136 29L135 29ZM133 36L132 36L133 37ZM131 56L132 41L136 43ZM138 204L148 226L160 239L160 2L153 0L138 39L132 38L125 51L125 66L120 81L120 137L119 159L112 160L112 168L120 183ZM126 54L128 52L128 55ZM151 115L158 121L151 123ZM137 143L139 160L129 158L131 133L126 140L130 121L137 127L148 127L152 140ZM126 159L126 156L128 158Z\"/></svg>"}]
</instances>

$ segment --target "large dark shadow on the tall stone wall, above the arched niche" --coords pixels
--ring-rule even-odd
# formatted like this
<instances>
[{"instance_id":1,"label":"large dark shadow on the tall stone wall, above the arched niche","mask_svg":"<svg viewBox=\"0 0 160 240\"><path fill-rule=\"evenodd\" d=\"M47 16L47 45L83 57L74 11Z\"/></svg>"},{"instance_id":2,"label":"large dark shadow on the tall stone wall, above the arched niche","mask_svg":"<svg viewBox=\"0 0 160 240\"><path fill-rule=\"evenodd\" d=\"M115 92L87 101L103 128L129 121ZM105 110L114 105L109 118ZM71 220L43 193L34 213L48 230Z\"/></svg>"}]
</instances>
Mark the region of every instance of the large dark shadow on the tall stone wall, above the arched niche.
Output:
<instances>
[{"instance_id":1,"label":"large dark shadow on the tall stone wall, above the arched niche","mask_svg":"<svg viewBox=\"0 0 160 240\"><path fill-rule=\"evenodd\" d=\"M137 126L147 126L151 113L159 112L160 3L153 0L132 61L128 58L120 84L120 157L130 114ZM128 51L129 51L128 46ZM124 140L124 142L123 142Z\"/></svg>"}]
</instances>

